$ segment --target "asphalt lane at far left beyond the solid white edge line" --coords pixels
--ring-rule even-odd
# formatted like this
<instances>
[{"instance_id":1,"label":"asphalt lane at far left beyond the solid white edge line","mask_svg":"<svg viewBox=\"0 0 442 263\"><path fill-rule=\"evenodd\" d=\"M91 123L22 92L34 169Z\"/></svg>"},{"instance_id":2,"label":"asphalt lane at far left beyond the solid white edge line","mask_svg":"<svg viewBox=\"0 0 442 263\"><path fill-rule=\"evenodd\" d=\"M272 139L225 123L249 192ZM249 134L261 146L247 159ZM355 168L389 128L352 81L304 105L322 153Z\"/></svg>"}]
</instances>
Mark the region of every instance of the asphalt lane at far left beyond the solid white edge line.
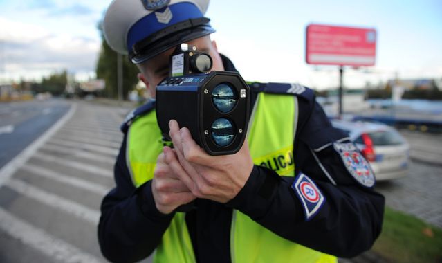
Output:
<instances>
[{"instance_id":1,"label":"asphalt lane at far left beyond the solid white edge line","mask_svg":"<svg viewBox=\"0 0 442 263\"><path fill-rule=\"evenodd\" d=\"M63 100L0 103L0 167L66 114Z\"/></svg>"}]
</instances>

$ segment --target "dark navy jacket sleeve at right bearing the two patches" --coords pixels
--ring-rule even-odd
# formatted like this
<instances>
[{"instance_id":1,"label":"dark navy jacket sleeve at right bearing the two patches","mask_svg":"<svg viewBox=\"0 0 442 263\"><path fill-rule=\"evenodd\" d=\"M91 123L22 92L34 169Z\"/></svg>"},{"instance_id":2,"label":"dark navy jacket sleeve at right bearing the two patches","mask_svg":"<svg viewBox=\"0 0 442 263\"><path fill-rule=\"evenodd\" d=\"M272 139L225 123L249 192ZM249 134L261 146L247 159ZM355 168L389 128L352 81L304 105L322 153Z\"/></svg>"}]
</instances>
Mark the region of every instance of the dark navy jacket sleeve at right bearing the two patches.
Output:
<instances>
[{"instance_id":1,"label":"dark navy jacket sleeve at right bearing the two patches","mask_svg":"<svg viewBox=\"0 0 442 263\"><path fill-rule=\"evenodd\" d=\"M311 115L298 125L298 131L295 172L309 176L325 199L316 214L306 220L302 200L291 188L294 177L279 176L256 165L228 206L273 233L317 251L339 257L367 251L380 234L384 197L351 177L333 149L333 142L345 142L346 134L331 127L320 105L313 104ZM322 149L313 156L315 146Z\"/></svg>"}]
</instances>

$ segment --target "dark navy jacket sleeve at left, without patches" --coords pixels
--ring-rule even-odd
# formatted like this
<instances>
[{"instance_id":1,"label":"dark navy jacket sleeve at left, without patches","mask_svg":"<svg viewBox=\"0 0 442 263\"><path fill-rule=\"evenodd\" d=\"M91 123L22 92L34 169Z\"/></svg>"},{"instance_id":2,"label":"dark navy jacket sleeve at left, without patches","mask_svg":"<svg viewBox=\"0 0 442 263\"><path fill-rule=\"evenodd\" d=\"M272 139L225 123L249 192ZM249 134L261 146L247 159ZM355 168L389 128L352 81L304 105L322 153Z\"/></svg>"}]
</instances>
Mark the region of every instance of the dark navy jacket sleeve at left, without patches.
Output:
<instances>
[{"instance_id":1,"label":"dark navy jacket sleeve at left, without patches","mask_svg":"<svg viewBox=\"0 0 442 263\"><path fill-rule=\"evenodd\" d=\"M160 243L173 215L155 206L151 181L135 188L126 165L126 136L114 167L116 188L104 197L98 225L100 248L111 262L136 262Z\"/></svg>"}]
</instances>

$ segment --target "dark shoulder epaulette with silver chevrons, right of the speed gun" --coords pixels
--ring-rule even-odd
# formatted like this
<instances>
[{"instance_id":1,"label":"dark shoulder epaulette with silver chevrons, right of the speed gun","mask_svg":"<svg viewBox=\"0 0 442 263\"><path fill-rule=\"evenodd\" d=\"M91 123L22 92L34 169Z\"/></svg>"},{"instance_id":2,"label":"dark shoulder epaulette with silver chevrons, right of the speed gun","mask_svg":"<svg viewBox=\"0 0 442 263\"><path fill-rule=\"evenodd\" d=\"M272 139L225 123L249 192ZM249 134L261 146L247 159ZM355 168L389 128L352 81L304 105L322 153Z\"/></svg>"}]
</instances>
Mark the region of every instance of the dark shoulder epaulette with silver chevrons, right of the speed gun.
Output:
<instances>
[{"instance_id":1,"label":"dark shoulder epaulette with silver chevrons, right of the speed gun","mask_svg":"<svg viewBox=\"0 0 442 263\"><path fill-rule=\"evenodd\" d=\"M249 83L249 85L252 90L255 90L257 92L295 95L301 98L305 98L306 100L313 100L315 98L315 93L312 89L309 89L297 83L252 82Z\"/></svg>"}]
</instances>

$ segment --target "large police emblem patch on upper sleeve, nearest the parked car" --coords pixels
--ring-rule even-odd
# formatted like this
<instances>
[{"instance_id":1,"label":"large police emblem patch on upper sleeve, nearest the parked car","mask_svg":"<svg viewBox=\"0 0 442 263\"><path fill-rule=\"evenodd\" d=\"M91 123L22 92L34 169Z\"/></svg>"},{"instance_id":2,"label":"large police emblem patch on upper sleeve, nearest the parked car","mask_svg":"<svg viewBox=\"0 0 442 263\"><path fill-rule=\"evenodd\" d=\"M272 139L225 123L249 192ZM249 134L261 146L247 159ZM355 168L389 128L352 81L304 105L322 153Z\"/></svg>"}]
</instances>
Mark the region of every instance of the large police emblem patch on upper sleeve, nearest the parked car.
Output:
<instances>
[{"instance_id":1,"label":"large police emblem patch on upper sleeve, nearest the parked car","mask_svg":"<svg viewBox=\"0 0 442 263\"><path fill-rule=\"evenodd\" d=\"M353 178L366 188L373 188L376 179L371 167L353 143L333 143L335 151L341 156L345 167Z\"/></svg>"}]
</instances>

